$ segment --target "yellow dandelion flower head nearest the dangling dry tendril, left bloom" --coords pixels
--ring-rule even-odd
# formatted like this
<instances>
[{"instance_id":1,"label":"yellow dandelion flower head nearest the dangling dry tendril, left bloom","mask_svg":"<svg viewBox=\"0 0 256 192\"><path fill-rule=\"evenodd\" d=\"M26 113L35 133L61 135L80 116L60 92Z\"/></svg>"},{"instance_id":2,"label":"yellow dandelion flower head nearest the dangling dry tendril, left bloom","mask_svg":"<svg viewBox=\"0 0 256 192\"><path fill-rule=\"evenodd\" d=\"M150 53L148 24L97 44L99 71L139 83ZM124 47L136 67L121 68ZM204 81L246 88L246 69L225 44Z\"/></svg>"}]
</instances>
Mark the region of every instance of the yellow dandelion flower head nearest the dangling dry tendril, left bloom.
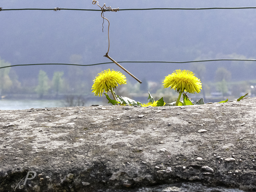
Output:
<instances>
[{"instance_id":1,"label":"yellow dandelion flower head nearest the dangling dry tendril, left bloom","mask_svg":"<svg viewBox=\"0 0 256 192\"><path fill-rule=\"evenodd\" d=\"M104 70L101 73L98 73L98 76L95 77L92 85L92 92L94 95L102 96L102 93L105 91L111 92L112 88L116 88L118 84L126 84L126 76L123 75L120 71L114 70Z\"/></svg>"}]
</instances>

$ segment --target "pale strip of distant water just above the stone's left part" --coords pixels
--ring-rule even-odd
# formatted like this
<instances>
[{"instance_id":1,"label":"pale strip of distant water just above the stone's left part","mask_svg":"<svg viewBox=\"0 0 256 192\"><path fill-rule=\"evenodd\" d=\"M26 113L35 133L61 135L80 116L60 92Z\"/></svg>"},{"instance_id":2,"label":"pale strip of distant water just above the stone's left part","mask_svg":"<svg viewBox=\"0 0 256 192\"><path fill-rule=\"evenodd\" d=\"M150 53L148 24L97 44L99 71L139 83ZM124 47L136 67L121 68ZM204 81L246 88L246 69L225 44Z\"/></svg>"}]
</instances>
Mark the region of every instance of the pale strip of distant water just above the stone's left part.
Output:
<instances>
[{"instance_id":1,"label":"pale strip of distant water just above the stone's left part","mask_svg":"<svg viewBox=\"0 0 256 192\"><path fill-rule=\"evenodd\" d=\"M88 101L85 106L92 104L104 105L100 101ZM106 105L106 104L105 104ZM52 107L65 107L66 104L62 100L0 100L1 110L15 110L15 109L29 109L29 108L52 108Z\"/></svg>"}]
</instances>

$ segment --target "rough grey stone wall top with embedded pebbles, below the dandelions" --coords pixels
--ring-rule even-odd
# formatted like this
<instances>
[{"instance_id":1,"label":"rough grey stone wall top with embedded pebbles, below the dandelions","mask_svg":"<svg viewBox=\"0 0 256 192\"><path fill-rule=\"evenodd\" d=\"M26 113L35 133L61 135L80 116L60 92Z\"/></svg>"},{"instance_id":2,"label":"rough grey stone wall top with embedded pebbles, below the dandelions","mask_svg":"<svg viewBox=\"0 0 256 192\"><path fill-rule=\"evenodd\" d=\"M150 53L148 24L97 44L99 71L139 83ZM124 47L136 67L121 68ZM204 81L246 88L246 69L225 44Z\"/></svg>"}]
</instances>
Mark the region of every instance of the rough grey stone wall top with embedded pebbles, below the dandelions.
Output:
<instances>
[{"instance_id":1,"label":"rough grey stone wall top with embedded pebbles, below the dandelions","mask_svg":"<svg viewBox=\"0 0 256 192\"><path fill-rule=\"evenodd\" d=\"M0 111L0 191L256 191L256 98L103 108Z\"/></svg>"}]
</instances>

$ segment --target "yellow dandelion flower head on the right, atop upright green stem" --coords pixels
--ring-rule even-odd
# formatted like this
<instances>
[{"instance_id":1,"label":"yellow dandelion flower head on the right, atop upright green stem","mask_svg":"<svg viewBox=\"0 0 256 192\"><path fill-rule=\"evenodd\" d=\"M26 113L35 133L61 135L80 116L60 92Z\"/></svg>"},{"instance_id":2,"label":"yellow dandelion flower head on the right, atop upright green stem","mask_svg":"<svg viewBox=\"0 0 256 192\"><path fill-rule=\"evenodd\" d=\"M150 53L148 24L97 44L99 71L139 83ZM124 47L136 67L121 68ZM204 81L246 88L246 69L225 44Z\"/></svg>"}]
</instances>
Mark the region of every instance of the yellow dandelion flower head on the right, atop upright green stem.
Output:
<instances>
[{"instance_id":1,"label":"yellow dandelion flower head on the right, atop upright green stem","mask_svg":"<svg viewBox=\"0 0 256 192\"><path fill-rule=\"evenodd\" d=\"M200 79L194 76L194 73L190 70L175 70L172 74L165 77L163 82L164 88L171 87L178 93L184 91L188 93L199 93L202 89L202 83Z\"/></svg>"}]
</instances>

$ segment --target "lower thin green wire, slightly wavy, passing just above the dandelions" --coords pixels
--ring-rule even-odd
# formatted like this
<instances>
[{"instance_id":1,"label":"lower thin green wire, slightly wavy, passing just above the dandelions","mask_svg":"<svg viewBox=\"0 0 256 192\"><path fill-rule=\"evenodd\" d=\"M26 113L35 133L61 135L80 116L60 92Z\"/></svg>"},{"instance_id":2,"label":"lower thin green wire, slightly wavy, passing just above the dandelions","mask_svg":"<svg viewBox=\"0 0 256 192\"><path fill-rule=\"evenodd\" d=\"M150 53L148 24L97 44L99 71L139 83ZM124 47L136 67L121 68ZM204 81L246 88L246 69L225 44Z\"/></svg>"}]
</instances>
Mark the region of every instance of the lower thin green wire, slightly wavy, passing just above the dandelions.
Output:
<instances>
[{"instance_id":1,"label":"lower thin green wire, slightly wavy, passing just above the dandelions","mask_svg":"<svg viewBox=\"0 0 256 192\"><path fill-rule=\"evenodd\" d=\"M197 60L197 61L119 61L118 63L195 63L195 62L208 62L208 61L256 61L256 59L211 59L211 60ZM29 66L29 65L76 65L76 66L92 66L92 65L102 65L110 64L113 62L96 63L96 64L70 64L70 63L38 63L38 64L19 64L19 65L8 65L0 67L0 69L7 67L16 66Z\"/></svg>"}]
</instances>

